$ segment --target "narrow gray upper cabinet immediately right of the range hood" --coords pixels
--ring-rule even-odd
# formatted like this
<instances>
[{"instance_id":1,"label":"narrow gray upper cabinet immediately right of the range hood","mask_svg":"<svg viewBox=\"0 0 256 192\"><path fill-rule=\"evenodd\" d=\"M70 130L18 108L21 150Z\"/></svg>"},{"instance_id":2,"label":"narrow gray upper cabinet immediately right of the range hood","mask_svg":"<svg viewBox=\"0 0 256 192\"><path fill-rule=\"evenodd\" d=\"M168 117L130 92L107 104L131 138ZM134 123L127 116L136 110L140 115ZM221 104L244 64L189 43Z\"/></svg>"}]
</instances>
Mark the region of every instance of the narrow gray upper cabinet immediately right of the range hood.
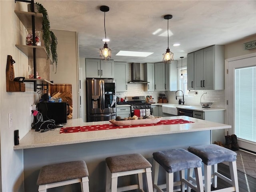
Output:
<instances>
[{"instance_id":1,"label":"narrow gray upper cabinet immediately right of the range hood","mask_svg":"<svg viewBox=\"0 0 256 192\"><path fill-rule=\"evenodd\" d=\"M154 63L144 63L144 81L149 83L144 84L144 91L154 91L155 85L155 68Z\"/></svg>"}]
</instances>

